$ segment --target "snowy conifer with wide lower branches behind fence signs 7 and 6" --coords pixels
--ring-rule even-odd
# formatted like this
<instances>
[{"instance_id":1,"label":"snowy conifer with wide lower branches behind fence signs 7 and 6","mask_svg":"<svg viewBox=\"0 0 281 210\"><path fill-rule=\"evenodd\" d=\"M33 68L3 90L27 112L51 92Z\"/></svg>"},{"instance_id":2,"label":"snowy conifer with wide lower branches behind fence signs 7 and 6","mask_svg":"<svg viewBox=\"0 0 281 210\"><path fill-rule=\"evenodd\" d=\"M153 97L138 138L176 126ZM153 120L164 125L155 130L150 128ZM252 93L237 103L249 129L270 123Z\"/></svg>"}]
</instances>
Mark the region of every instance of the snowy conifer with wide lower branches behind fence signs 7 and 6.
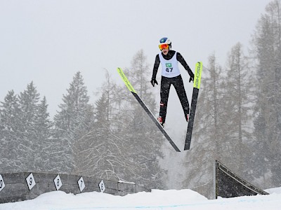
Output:
<instances>
[{"instance_id":1,"label":"snowy conifer with wide lower branches behind fence signs 7 and 6","mask_svg":"<svg viewBox=\"0 0 281 210\"><path fill-rule=\"evenodd\" d=\"M124 172L129 165L124 161L123 139L116 136L118 97L115 82L108 71L100 88L100 98L96 101L95 121L91 131L81 138L79 157L80 174L111 180L124 180Z\"/></svg>"}]
</instances>

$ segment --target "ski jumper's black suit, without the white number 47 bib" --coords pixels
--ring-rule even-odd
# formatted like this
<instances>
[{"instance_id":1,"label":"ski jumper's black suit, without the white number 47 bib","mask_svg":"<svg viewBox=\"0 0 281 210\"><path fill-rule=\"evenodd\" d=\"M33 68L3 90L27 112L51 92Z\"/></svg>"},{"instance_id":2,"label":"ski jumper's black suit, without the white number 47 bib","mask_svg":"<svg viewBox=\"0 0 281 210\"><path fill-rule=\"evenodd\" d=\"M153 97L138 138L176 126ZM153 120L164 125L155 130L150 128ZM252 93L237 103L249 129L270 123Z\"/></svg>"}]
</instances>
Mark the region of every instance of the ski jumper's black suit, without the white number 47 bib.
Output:
<instances>
[{"instance_id":1,"label":"ski jumper's black suit, without the white number 47 bib","mask_svg":"<svg viewBox=\"0 0 281 210\"><path fill-rule=\"evenodd\" d=\"M169 60L175 55L175 53L176 53L176 59L178 60L178 62L180 62L183 65L185 70L188 71L190 78L193 80L194 74L192 73L190 67L185 62L185 59L183 59L183 56L179 52L176 52L174 50L169 50L167 55L164 55L162 53L162 56L164 59ZM159 59L159 54L157 54L155 57L155 64L153 67L152 80L155 80L155 78L156 78L159 64L160 64L160 59ZM159 111L159 116L162 117L162 124L164 124L165 120L166 120L166 109L168 106L169 91L170 91L171 85L174 85L176 93L178 94L178 98L181 101L181 106L183 107L183 113L185 115L185 120L187 120L187 115L189 114L189 111L190 111L188 97L186 96L181 74L178 76L172 77L172 78L167 78L165 76L162 76L161 90L160 90L161 102L160 102L160 111Z\"/></svg>"}]
</instances>

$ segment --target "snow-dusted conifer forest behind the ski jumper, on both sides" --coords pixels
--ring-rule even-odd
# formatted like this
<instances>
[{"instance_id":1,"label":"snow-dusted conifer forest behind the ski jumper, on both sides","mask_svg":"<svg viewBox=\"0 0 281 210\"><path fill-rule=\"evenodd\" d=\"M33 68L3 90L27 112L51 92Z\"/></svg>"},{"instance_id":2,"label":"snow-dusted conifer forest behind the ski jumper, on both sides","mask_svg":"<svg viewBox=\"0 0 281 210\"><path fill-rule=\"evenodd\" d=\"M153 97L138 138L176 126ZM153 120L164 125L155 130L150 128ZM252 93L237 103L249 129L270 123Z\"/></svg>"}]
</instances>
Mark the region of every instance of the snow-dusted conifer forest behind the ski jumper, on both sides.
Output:
<instances>
[{"instance_id":1,"label":"snow-dusted conifer forest behind the ski jumper, on both sides","mask_svg":"<svg viewBox=\"0 0 281 210\"><path fill-rule=\"evenodd\" d=\"M249 49L237 43L226 64L215 53L204 64L192 148L181 162L181 188L213 181L214 160L261 188L281 186L281 4L266 6ZM124 69L157 116L144 50ZM49 172L133 181L166 189L164 137L124 84L107 72L91 104L78 71L50 118L33 82L0 103L1 173Z\"/></svg>"}]
</instances>

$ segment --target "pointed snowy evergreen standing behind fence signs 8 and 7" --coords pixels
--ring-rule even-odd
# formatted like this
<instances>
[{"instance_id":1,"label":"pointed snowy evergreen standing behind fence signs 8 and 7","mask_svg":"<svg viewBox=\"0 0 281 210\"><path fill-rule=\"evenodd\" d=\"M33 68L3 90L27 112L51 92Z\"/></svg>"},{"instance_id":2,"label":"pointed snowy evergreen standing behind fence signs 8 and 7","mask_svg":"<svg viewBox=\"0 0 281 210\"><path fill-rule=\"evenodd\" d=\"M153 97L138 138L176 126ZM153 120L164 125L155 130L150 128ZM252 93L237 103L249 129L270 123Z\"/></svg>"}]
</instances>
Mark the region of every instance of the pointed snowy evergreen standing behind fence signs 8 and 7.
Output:
<instances>
[{"instance_id":1,"label":"pointed snowy evergreen standing behind fence signs 8 and 7","mask_svg":"<svg viewBox=\"0 0 281 210\"><path fill-rule=\"evenodd\" d=\"M58 143L57 161L63 163L61 172L79 171L79 144L81 137L89 132L93 120L93 107L89 104L86 86L78 71L63 95L63 104L55 115L55 138Z\"/></svg>"}]
</instances>

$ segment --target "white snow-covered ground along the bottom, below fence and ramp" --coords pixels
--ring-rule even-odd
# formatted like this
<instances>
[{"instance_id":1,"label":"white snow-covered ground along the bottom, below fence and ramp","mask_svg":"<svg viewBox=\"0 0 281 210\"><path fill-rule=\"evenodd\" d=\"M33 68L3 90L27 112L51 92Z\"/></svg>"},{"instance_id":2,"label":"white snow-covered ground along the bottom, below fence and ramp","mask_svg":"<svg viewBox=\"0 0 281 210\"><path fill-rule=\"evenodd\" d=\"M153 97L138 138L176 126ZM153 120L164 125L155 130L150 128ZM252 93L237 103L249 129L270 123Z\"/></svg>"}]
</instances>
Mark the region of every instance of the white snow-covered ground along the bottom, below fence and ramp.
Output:
<instances>
[{"instance_id":1,"label":"white snow-covered ground along the bottom, below fence and ramp","mask_svg":"<svg viewBox=\"0 0 281 210\"><path fill-rule=\"evenodd\" d=\"M45 193L23 202L0 204L1 210L90 210L90 209L188 209L188 210L280 210L281 188L266 190L270 195L256 195L207 200L192 190L152 190L124 197L105 193Z\"/></svg>"}]
</instances>

